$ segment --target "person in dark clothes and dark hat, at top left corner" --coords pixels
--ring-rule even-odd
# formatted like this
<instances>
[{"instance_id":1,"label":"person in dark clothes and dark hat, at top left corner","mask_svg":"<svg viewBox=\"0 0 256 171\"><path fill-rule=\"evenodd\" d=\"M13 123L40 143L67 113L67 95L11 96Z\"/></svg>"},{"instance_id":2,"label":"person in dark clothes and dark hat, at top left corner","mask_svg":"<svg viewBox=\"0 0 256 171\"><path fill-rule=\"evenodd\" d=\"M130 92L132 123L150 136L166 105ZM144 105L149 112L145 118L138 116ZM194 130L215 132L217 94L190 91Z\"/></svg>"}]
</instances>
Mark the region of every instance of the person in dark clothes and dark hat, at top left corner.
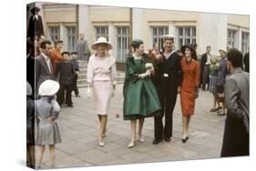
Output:
<instances>
[{"instance_id":1,"label":"person in dark clothes and dark hat, at top left corner","mask_svg":"<svg viewBox=\"0 0 256 171\"><path fill-rule=\"evenodd\" d=\"M40 38L41 35L44 35L43 20L41 15L38 15L39 11L39 7L34 7L30 10L32 16L29 19L26 37L34 38L37 35Z\"/></svg>"}]
</instances>

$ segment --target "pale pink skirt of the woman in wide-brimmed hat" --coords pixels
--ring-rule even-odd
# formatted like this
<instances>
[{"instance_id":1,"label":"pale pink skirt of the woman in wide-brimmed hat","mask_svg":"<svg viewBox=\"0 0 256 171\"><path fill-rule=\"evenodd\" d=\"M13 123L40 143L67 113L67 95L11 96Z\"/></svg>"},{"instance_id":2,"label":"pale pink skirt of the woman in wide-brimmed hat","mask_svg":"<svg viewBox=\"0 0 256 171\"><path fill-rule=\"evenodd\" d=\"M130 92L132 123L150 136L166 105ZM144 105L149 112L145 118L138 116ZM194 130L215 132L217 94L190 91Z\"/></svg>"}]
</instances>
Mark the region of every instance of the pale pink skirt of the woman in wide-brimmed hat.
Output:
<instances>
[{"instance_id":1,"label":"pale pink skirt of the woman in wide-brimmed hat","mask_svg":"<svg viewBox=\"0 0 256 171\"><path fill-rule=\"evenodd\" d=\"M93 97L96 106L96 113L100 116L107 116L110 105L110 98L113 93L111 81L94 81Z\"/></svg>"}]
</instances>

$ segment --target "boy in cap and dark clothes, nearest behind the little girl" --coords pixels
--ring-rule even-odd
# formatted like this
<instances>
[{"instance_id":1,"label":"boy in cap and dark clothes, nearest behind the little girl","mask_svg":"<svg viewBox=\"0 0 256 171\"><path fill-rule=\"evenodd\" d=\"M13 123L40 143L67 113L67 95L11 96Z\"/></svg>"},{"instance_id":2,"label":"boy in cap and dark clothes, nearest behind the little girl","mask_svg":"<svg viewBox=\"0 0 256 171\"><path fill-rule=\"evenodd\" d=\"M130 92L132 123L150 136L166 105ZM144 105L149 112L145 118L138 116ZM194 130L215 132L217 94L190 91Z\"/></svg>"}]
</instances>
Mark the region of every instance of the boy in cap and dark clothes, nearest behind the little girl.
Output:
<instances>
[{"instance_id":1,"label":"boy in cap and dark clothes, nearest behind the little girl","mask_svg":"<svg viewBox=\"0 0 256 171\"><path fill-rule=\"evenodd\" d=\"M56 101L59 106L64 102L66 91L67 106L73 107L71 92L73 90L74 78L76 75L74 66L69 62L71 57L68 52L63 52L62 57L65 61L61 61L56 65L56 75L59 74L59 90L57 92Z\"/></svg>"}]
</instances>

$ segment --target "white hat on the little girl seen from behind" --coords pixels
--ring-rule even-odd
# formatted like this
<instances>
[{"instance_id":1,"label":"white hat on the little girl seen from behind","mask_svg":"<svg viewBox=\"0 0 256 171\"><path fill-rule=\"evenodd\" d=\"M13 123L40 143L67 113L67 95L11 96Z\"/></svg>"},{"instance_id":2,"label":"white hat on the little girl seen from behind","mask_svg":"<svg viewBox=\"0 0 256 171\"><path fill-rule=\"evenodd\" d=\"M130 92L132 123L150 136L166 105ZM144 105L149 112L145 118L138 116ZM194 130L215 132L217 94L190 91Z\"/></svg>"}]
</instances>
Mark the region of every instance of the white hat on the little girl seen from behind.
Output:
<instances>
[{"instance_id":1,"label":"white hat on the little girl seen from behind","mask_svg":"<svg viewBox=\"0 0 256 171\"><path fill-rule=\"evenodd\" d=\"M56 94L59 84L53 80L46 80L39 86L39 96L53 96Z\"/></svg>"}]
</instances>

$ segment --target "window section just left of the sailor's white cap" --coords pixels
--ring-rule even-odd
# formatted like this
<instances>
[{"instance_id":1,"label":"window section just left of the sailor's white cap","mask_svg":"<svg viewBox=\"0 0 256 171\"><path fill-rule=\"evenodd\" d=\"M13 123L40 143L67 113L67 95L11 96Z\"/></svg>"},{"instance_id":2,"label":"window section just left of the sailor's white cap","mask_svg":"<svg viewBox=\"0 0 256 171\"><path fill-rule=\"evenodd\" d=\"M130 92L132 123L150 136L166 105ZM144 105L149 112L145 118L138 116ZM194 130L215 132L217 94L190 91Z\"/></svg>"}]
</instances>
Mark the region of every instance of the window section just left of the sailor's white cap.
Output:
<instances>
[{"instance_id":1,"label":"window section just left of the sailor's white cap","mask_svg":"<svg viewBox=\"0 0 256 171\"><path fill-rule=\"evenodd\" d=\"M159 49L162 49L164 44L162 35L168 35L168 32L169 32L168 26L153 26L151 30L152 30L153 45L157 44L159 45Z\"/></svg>"}]
</instances>

